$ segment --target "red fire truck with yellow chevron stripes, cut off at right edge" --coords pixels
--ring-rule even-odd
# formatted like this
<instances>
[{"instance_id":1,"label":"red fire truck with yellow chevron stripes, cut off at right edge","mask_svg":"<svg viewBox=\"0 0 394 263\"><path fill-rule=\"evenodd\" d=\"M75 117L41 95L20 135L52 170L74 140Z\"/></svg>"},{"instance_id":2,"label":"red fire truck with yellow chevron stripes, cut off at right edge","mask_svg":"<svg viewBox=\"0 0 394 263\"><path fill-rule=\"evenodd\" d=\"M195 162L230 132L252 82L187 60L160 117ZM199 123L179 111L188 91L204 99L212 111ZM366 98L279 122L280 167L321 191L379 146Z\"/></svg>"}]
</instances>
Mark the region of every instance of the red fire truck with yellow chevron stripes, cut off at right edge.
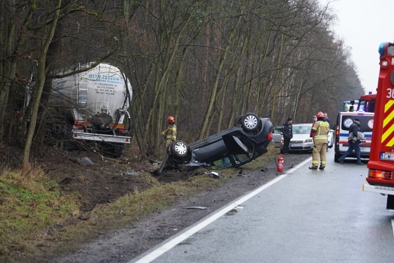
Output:
<instances>
[{"instance_id":1,"label":"red fire truck with yellow chevron stripes, cut off at right edge","mask_svg":"<svg viewBox=\"0 0 394 263\"><path fill-rule=\"evenodd\" d=\"M368 162L368 184L363 191L387 195L387 209L394 209L394 43L379 46L380 71L374 106L374 138Z\"/></svg>"}]
</instances>

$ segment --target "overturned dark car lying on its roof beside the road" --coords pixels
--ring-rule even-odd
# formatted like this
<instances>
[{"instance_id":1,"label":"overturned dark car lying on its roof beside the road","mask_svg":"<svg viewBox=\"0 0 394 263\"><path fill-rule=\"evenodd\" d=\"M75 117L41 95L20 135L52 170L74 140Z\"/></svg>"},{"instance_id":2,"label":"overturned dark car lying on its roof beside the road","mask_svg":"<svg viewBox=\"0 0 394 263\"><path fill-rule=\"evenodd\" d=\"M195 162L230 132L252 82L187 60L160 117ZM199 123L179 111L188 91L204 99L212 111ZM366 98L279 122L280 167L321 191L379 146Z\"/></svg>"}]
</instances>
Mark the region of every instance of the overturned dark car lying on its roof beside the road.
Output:
<instances>
[{"instance_id":1,"label":"overturned dark car lying on its roof beside the road","mask_svg":"<svg viewBox=\"0 0 394 263\"><path fill-rule=\"evenodd\" d=\"M224 169L249 163L267 152L272 140L272 123L255 113L238 116L235 127L186 145L177 140L167 148L158 169L193 170L201 167Z\"/></svg>"}]
</instances>

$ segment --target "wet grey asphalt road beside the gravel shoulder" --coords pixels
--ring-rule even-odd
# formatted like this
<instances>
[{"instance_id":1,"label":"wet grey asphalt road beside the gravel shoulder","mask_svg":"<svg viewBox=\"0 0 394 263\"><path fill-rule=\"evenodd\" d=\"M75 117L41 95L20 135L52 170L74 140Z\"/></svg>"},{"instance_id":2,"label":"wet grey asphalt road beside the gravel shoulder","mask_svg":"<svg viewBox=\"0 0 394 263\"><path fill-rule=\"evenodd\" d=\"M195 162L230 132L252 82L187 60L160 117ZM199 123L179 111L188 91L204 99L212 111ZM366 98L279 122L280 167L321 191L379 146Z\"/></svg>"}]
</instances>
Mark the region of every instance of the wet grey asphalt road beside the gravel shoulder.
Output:
<instances>
[{"instance_id":1,"label":"wet grey asphalt road beside the gravel shoulder","mask_svg":"<svg viewBox=\"0 0 394 263\"><path fill-rule=\"evenodd\" d=\"M394 262L394 212L355 160L308 159L133 262Z\"/></svg>"}]
</instances>

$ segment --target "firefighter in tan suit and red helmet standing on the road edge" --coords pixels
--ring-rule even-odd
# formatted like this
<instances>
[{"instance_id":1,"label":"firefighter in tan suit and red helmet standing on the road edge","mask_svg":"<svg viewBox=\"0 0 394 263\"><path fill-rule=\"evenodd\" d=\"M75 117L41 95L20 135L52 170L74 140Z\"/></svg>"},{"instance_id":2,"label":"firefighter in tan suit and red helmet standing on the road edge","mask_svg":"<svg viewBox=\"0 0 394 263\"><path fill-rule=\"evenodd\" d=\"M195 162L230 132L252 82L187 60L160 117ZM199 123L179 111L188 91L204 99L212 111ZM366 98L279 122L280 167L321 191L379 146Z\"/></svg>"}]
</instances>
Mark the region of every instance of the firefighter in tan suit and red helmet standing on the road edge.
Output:
<instances>
[{"instance_id":1,"label":"firefighter in tan suit and red helmet standing on the road edge","mask_svg":"<svg viewBox=\"0 0 394 263\"><path fill-rule=\"evenodd\" d=\"M324 113L318 112L316 114L317 121L312 127L311 133L314 134L314 146L312 152L312 166L309 169L324 170L326 167L326 147L327 147L327 134L330 131L330 124L326 121ZM320 155L320 167L319 164Z\"/></svg>"}]
</instances>

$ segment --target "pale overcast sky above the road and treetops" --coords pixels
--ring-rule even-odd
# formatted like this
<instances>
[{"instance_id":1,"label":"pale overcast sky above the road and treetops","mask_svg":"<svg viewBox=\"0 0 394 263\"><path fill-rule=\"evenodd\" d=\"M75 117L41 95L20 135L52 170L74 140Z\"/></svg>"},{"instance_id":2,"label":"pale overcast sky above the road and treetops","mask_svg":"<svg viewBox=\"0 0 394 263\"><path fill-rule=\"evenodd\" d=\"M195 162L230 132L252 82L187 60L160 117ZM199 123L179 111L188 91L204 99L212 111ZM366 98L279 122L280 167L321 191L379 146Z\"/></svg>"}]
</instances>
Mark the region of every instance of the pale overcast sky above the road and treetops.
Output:
<instances>
[{"instance_id":1,"label":"pale overcast sky above the road and treetops","mask_svg":"<svg viewBox=\"0 0 394 263\"><path fill-rule=\"evenodd\" d=\"M319 0L326 4L329 0ZM338 38L351 48L358 77L366 93L376 91L379 75L378 48L394 42L394 0L330 0L336 13L333 24Z\"/></svg>"}]
</instances>

